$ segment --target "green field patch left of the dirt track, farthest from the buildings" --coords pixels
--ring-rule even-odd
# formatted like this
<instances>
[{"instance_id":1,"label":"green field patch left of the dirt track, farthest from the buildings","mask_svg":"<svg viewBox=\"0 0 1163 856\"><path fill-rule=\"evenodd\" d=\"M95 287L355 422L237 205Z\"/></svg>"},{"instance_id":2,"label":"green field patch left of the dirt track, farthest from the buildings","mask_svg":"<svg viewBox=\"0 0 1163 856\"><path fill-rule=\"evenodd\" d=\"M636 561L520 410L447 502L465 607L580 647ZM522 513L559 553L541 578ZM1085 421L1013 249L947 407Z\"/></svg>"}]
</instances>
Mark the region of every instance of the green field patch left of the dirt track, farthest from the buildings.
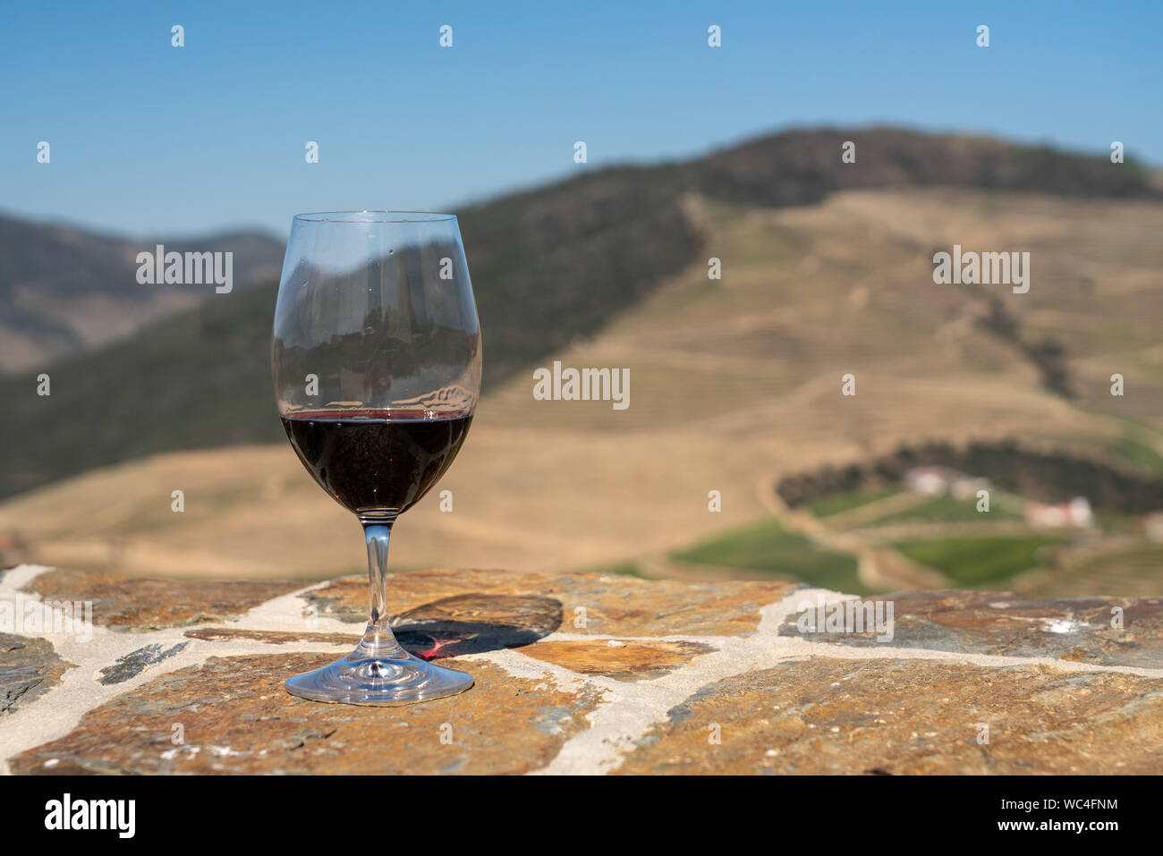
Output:
<instances>
[{"instance_id":1,"label":"green field patch left of the dirt track, farthest from the buildings","mask_svg":"<svg viewBox=\"0 0 1163 856\"><path fill-rule=\"evenodd\" d=\"M701 565L785 573L822 588L869 593L856 575L852 556L821 550L802 535L784 530L775 520L763 520L718 535L672 554L671 558Z\"/></svg>"}]
</instances>

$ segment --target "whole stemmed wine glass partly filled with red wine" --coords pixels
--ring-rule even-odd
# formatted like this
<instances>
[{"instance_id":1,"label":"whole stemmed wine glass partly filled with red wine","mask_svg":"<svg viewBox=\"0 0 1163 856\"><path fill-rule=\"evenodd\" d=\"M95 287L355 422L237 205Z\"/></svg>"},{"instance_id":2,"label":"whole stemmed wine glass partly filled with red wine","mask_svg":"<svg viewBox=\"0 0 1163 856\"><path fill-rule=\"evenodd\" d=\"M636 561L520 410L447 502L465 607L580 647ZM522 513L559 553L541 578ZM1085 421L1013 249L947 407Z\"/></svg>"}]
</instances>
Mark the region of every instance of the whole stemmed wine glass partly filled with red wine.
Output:
<instances>
[{"instance_id":1,"label":"whole stemmed wine glass partly filled with red wine","mask_svg":"<svg viewBox=\"0 0 1163 856\"><path fill-rule=\"evenodd\" d=\"M363 525L371 599L356 650L288 678L287 691L406 705L468 690L469 675L404 650L387 615L392 525L452 463L480 391L480 328L456 217L297 215L271 363L291 445Z\"/></svg>"}]
</instances>

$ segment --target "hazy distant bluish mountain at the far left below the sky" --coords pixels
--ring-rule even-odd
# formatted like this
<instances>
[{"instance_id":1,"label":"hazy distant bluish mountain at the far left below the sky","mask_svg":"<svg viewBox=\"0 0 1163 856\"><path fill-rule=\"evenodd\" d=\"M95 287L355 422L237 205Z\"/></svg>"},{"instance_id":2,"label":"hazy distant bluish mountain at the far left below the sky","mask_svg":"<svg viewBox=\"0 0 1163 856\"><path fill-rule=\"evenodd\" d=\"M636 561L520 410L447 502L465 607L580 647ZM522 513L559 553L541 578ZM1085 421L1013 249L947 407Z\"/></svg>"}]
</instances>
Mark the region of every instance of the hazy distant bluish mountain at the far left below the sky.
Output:
<instances>
[{"instance_id":1,"label":"hazy distant bluish mountain at the far left below the sky","mask_svg":"<svg viewBox=\"0 0 1163 856\"><path fill-rule=\"evenodd\" d=\"M138 252L233 252L234 281L278 277L283 244L258 233L127 240L0 215L0 372L44 369L52 361L129 336L193 308L201 286L137 283Z\"/></svg>"}]
</instances>

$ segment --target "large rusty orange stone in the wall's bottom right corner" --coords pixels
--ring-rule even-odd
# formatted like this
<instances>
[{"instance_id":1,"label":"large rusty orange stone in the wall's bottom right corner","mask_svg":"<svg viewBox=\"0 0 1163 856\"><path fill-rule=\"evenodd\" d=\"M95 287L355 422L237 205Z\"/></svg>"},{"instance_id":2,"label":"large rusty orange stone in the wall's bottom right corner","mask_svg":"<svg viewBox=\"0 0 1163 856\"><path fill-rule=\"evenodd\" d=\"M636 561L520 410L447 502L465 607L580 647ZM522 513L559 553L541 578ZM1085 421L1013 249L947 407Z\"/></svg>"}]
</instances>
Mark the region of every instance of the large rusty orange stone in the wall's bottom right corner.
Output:
<instances>
[{"instance_id":1,"label":"large rusty orange stone in the wall's bottom right corner","mask_svg":"<svg viewBox=\"0 0 1163 856\"><path fill-rule=\"evenodd\" d=\"M618 772L1160 773L1163 680L814 657L704 687Z\"/></svg>"}]
</instances>

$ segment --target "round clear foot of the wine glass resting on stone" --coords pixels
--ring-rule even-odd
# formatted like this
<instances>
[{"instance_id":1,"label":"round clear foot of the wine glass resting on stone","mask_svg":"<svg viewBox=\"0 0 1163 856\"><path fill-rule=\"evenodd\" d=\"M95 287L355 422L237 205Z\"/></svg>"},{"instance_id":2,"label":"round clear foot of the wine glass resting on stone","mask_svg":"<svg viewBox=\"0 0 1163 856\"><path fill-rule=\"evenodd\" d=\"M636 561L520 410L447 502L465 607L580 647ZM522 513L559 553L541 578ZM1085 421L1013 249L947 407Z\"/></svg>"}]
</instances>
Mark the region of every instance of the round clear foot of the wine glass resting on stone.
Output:
<instances>
[{"instance_id":1,"label":"round clear foot of the wine glass resting on stone","mask_svg":"<svg viewBox=\"0 0 1163 856\"><path fill-rule=\"evenodd\" d=\"M330 665L287 678L292 696L341 705L411 705L455 696L472 686L472 676L433 665L399 645L359 647Z\"/></svg>"}]
</instances>

